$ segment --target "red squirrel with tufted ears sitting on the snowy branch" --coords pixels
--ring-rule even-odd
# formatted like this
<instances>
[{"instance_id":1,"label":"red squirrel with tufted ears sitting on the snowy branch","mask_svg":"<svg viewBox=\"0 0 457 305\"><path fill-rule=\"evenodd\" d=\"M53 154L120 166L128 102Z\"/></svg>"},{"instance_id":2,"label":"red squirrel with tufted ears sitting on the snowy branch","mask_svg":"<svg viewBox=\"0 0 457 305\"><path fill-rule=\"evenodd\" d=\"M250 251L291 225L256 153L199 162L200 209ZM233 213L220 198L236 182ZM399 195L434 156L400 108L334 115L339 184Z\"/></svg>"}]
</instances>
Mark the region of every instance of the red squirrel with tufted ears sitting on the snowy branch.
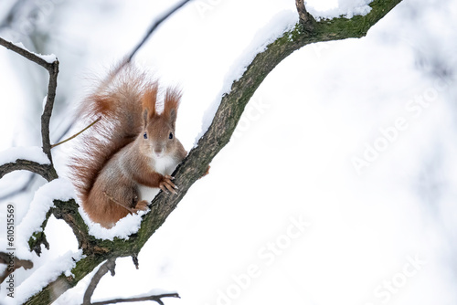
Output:
<instances>
[{"instance_id":1,"label":"red squirrel with tufted ears sitting on the snowy branch","mask_svg":"<svg viewBox=\"0 0 457 305\"><path fill-rule=\"evenodd\" d=\"M175 137L181 93L166 89L160 113L158 93L156 80L127 67L81 104L81 119L101 119L82 134L70 175L83 209L101 226L147 209L160 189L176 193L170 174L187 154Z\"/></svg>"}]
</instances>

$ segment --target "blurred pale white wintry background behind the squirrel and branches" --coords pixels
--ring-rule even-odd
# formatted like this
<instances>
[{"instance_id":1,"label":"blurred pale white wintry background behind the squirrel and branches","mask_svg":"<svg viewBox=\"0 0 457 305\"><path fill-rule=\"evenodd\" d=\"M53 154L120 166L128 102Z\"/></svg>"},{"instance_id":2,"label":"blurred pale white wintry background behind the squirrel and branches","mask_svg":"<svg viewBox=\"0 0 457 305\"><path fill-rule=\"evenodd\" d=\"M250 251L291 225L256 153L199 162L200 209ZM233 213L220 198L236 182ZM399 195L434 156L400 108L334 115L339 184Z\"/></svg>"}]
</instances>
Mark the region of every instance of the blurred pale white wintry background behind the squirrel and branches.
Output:
<instances>
[{"instance_id":1,"label":"blurred pale white wintry background behind the squirrel and branches","mask_svg":"<svg viewBox=\"0 0 457 305\"><path fill-rule=\"evenodd\" d=\"M0 37L60 62L51 142L103 75L177 1L2 0ZM363 13L365 1L309 0L315 16ZM355 10L358 6L360 9ZM205 113L264 28L291 24L292 0L194 0L135 57L184 91L176 136L190 150ZM293 21L293 20L292 20ZM117 260L92 300L151 289L166 304L457 303L457 3L403 0L367 37L303 47L250 100L228 147L140 253ZM261 34L259 34L261 33ZM0 48L0 151L39 146L46 70ZM53 150L65 177L71 142ZM77 148L76 148L77 149ZM16 221L42 178L7 174L0 214ZM50 250L77 249L51 217ZM16 271L20 283L36 268ZM57 304L80 304L85 279Z\"/></svg>"}]
</instances>

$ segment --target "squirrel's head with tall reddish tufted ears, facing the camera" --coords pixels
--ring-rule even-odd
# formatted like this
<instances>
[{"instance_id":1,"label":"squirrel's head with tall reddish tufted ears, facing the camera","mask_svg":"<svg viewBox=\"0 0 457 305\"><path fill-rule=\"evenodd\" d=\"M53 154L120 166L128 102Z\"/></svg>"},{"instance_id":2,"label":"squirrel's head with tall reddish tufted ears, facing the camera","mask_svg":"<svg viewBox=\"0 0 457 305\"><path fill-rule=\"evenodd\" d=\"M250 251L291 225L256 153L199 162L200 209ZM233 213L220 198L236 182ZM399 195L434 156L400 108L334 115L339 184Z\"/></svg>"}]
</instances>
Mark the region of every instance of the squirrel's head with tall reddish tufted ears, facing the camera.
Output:
<instances>
[{"instance_id":1,"label":"squirrel's head with tall reddish tufted ears, facing the camera","mask_svg":"<svg viewBox=\"0 0 457 305\"><path fill-rule=\"evenodd\" d=\"M143 132L140 135L143 153L158 159L173 154L177 140L175 138L175 122L181 92L167 89L164 100L164 111L155 109L158 85L154 84L143 94Z\"/></svg>"}]
</instances>

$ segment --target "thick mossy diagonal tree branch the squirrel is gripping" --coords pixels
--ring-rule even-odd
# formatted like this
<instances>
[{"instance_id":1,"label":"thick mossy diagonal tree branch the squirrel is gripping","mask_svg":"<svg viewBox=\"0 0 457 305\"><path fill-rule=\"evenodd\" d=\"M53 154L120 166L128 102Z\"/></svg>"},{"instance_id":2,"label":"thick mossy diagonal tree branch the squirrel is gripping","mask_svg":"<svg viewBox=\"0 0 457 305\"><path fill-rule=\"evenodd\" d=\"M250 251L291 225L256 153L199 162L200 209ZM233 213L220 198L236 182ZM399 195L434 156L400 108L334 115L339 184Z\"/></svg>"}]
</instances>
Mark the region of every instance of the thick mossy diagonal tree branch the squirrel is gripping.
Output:
<instances>
[{"instance_id":1,"label":"thick mossy diagonal tree branch the squirrel is gripping","mask_svg":"<svg viewBox=\"0 0 457 305\"><path fill-rule=\"evenodd\" d=\"M364 37L367 35L368 29L383 16L386 16L399 2L401 0L375 0L370 4L372 11L367 16L322 20L315 22L312 30L300 22L291 31L277 38L253 59L242 77L233 82L228 94L222 97L218 111L207 132L199 140L197 147L187 155L183 163L175 170L175 184L179 185L180 189L178 195L165 193L157 195L154 198L150 213L143 216L143 222L138 233L128 240L114 238L113 241L109 241L87 237L89 247L84 250L86 258L82 258L71 270L74 276L69 278L60 276L58 280L50 283L45 289L28 300L27 304L50 303L56 300L60 293L76 285L80 279L83 279L102 261L139 253L149 237L154 234L158 227L162 226L167 216L186 195L189 187L206 173L208 164L228 143L255 90L282 59L288 57L293 51L315 42ZM75 206L65 207L64 210L78 213ZM68 213L63 213L64 216L66 214ZM75 220L75 224L77 224L75 227L85 226L80 224L79 218ZM75 229L73 230L75 232ZM86 232L81 232L81 234L85 235ZM59 293L52 294L50 292L52 290L54 292L59 291ZM99 303L99 305L101 304Z\"/></svg>"}]
</instances>

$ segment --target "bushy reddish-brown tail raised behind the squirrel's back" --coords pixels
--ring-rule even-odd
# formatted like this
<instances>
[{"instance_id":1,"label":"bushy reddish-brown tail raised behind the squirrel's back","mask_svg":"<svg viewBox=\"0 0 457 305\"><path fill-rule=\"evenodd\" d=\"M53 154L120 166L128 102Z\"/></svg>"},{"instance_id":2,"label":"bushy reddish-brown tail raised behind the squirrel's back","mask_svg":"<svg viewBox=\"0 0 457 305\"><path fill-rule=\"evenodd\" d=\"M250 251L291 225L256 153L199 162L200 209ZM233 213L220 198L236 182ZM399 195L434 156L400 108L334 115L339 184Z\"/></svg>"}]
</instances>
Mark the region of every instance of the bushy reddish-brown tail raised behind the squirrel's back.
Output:
<instances>
[{"instance_id":1,"label":"bushy reddish-brown tail raised behind the squirrel's back","mask_svg":"<svg viewBox=\"0 0 457 305\"><path fill-rule=\"evenodd\" d=\"M82 101L78 120L89 125L100 118L77 138L69 163L70 177L83 202L104 165L142 131L142 92L151 88L157 88L157 83L148 82L138 69L114 68Z\"/></svg>"}]
</instances>

